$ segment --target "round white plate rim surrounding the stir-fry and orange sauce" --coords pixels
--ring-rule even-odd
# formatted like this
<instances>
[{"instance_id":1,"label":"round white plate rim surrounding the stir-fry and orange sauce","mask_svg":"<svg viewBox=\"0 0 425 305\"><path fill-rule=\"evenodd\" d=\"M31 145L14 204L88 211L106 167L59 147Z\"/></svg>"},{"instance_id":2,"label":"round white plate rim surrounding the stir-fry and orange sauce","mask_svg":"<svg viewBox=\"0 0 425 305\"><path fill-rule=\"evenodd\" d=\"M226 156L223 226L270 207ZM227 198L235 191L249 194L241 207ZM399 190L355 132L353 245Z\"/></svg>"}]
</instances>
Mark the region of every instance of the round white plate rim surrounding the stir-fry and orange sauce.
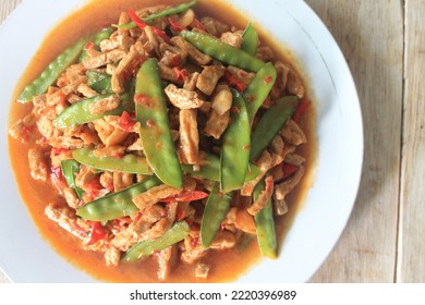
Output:
<instances>
[{"instance_id":1,"label":"round white plate rim surrounding the stir-fry and orange sauce","mask_svg":"<svg viewBox=\"0 0 425 305\"><path fill-rule=\"evenodd\" d=\"M317 101L318 160L305 206L280 258L264 260L240 282L305 282L335 246L355 200L363 160L357 94L336 41L303 1L229 1L293 51ZM39 236L17 194L7 144L9 101L20 75L49 29L84 2L24 0L0 29L0 266L14 282L94 281Z\"/></svg>"}]
</instances>

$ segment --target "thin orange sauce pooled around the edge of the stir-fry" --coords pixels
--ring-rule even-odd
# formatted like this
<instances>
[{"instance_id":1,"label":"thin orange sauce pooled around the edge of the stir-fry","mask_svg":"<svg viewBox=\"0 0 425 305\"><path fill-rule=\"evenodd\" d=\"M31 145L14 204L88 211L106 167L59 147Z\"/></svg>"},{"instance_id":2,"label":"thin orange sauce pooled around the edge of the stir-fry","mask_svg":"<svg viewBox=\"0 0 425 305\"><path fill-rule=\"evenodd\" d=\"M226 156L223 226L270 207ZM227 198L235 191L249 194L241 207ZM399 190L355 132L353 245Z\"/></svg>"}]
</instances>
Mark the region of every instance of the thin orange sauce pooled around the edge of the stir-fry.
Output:
<instances>
[{"instance_id":1,"label":"thin orange sauce pooled around the edge of the stir-fry","mask_svg":"<svg viewBox=\"0 0 425 305\"><path fill-rule=\"evenodd\" d=\"M11 102L10 122L15 122L19 118L32 111L32 105L16 102L17 95L26 84L37 77L42 70L52 61L66 46L72 45L78 37L96 33L104 26L118 21L119 14L126 11L129 7L141 8L160 3L175 4L181 1L158 1L158 0L120 0L101 1L92 0L83 9L69 15L63 22L56 26L46 37L40 48L34 54L26 72L20 80L15 95ZM214 2L214 3L212 3ZM221 1L198 1L196 9L201 15L209 15L222 20L228 24L244 28L248 22L245 16L234 11L231 7ZM101 17L99 17L101 16ZM270 37L260 32L262 41L274 48L275 52L284 62L292 62L289 53L276 44ZM306 157L306 174L302 183L288 197L289 213L277 220L277 231L280 244L290 229L298 209L306 191L313 183L313 168L316 151L316 135L314 131L315 109L311 107L303 119L303 130L306 132L308 144L302 148L303 156ZM157 282L158 265L155 258L149 258L134 264L120 264L119 267L106 267L101 253L87 252L82 249L81 241L58 228L49 220L45 213L45 207L57 200L61 200L60 195L50 182L34 181L29 174L27 152L35 144L22 144L9 137L10 161L15 174L15 181L23 202L25 203L35 227L52 248L69 260L72 265L87 272L95 279L106 282ZM283 251L284 252L284 251ZM284 259L282 257L281 259ZM209 254L203 261L208 264L210 272L207 282L230 282L250 270L252 266L260 260L260 254L255 240L244 249L229 249ZM48 264L40 263L40 264ZM169 282L199 282L204 280L194 277L194 266L178 264L170 272Z\"/></svg>"}]
</instances>

